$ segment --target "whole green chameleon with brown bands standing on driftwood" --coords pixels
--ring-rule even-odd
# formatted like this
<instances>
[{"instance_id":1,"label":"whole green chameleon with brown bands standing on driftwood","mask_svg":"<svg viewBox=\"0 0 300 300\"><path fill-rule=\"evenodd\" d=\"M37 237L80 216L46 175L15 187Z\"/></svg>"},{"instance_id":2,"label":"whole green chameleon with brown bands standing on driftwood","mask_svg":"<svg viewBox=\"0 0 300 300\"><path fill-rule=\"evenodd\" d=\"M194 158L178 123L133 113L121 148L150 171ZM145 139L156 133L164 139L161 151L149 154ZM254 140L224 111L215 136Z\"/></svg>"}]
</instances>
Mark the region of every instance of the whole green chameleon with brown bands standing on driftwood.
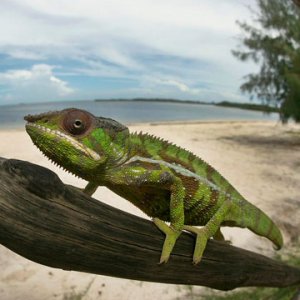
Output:
<instances>
[{"instance_id":1,"label":"whole green chameleon with brown bands standing on driftwood","mask_svg":"<svg viewBox=\"0 0 300 300\"><path fill-rule=\"evenodd\" d=\"M248 228L283 245L279 228L248 202L217 170L167 140L130 133L121 123L68 108L27 115L26 131L51 161L83 178L92 195L106 186L130 201L165 234L160 263L166 263L182 231L195 235L193 263L207 241L224 240L221 226Z\"/></svg>"}]
</instances>

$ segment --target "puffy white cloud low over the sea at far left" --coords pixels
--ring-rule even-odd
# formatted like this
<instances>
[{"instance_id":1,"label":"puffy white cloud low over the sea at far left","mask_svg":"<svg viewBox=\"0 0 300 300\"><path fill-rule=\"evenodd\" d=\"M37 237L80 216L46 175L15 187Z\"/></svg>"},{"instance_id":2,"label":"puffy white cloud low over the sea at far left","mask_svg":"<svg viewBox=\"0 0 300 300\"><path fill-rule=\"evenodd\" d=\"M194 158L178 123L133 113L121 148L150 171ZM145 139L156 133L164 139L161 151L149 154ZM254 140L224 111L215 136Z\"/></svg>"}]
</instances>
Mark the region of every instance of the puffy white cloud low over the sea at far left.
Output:
<instances>
[{"instance_id":1,"label":"puffy white cloud low over the sea at far left","mask_svg":"<svg viewBox=\"0 0 300 300\"><path fill-rule=\"evenodd\" d=\"M36 64L31 69L9 70L0 73L0 93L5 102L50 101L64 99L74 93L67 82L53 74L53 66Z\"/></svg>"}]
</instances>

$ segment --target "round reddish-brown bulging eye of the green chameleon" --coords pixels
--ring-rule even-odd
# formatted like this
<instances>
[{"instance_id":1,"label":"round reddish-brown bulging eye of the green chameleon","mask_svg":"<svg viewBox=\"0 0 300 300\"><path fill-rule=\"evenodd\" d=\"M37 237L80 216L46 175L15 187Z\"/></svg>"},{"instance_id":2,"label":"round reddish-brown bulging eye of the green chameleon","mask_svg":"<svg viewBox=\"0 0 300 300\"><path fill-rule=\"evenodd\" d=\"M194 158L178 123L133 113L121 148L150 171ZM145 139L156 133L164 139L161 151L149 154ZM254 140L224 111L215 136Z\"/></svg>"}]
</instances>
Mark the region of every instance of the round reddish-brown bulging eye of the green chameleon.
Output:
<instances>
[{"instance_id":1,"label":"round reddish-brown bulging eye of the green chameleon","mask_svg":"<svg viewBox=\"0 0 300 300\"><path fill-rule=\"evenodd\" d=\"M72 135L82 135L89 130L92 117L88 112L80 110L69 111L63 120L64 129Z\"/></svg>"}]
</instances>

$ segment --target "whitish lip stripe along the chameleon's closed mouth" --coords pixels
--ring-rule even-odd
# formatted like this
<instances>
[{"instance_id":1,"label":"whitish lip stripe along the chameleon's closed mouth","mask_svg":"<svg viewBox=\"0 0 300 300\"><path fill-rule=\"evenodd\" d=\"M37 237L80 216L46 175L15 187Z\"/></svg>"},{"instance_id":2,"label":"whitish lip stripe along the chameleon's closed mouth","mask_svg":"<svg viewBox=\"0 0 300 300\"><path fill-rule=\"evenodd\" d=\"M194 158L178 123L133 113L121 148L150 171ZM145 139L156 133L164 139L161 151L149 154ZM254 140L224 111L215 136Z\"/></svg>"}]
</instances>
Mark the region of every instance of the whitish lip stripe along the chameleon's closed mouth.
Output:
<instances>
[{"instance_id":1,"label":"whitish lip stripe along the chameleon's closed mouth","mask_svg":"<svg viewBox=\"0 0 300 300\"><path fill-rule=\"evenodd\" d=\"M50 129L50 128L47 128L45 126L42 126L42 125L39 125L39 124L36 124L36 123L27 122L27 124L26 124L26 130L29 131L28 132L29 135L30 135L30 129L37 129L40 132L45 132L47 134L54 135L56 138L58 138L58 140L67 141L70 144L72 144L72 146L74 148L76 148L77 150L79 150L83 155L88 156L88 157L92 158L93 160L98 161L98 160L101 159L101 157L100 157L100 155L98 153L96 153L95 151L91 150L90 148L87 148L85 145L83 145L82 143L78 142L73 137L71 137L71 136L63 133L62 131Z\"/></svg>"}]
</instances>

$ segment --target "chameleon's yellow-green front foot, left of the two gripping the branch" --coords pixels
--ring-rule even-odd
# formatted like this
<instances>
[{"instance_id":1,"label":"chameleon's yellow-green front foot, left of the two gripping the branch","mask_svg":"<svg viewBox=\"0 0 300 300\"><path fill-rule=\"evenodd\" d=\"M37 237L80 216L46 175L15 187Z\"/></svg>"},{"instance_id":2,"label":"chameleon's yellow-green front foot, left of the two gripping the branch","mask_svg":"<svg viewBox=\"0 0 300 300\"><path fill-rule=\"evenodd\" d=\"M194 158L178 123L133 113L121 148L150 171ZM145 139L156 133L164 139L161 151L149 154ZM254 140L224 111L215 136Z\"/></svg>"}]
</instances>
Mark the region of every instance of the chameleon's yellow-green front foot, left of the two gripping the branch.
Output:
<instances>
[{"instance_id":1,"label":"chameleon's yellow-green front foot, left of the two gripping the branch","mask_svg":"<svg viewBox=\"0 0 300 300\"><path fill-rule=\"evenodd\" d=\"M181 230L173 229L158 218L154 218L153 222L166 235L159 263L167 263Z\"/></svg>"}]
</instances>

